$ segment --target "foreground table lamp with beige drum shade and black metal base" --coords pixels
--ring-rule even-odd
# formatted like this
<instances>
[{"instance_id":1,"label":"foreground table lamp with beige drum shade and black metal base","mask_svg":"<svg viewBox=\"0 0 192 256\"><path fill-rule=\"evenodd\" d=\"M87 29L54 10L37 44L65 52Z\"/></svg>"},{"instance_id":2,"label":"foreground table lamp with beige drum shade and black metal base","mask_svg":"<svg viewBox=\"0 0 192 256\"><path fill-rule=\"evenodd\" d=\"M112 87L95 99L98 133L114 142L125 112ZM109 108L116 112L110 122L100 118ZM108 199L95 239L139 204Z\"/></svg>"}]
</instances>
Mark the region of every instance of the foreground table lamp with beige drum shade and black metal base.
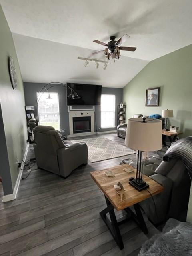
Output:
<instances>
[{"instance_id":1,"label":"foreground table lamp with beige drum shade and black metal base","mask_svg":"<svg viewBox=\"0 0 192 256\"><path fill-rule=\"evenodd\" d=\"M125 145L137 150L136 177L129 184L141 191L149 187L142 179L142 151L156 151L162 148L162 122L152 118L130 118L127 124Z\"/></svg>"}]
</instances>

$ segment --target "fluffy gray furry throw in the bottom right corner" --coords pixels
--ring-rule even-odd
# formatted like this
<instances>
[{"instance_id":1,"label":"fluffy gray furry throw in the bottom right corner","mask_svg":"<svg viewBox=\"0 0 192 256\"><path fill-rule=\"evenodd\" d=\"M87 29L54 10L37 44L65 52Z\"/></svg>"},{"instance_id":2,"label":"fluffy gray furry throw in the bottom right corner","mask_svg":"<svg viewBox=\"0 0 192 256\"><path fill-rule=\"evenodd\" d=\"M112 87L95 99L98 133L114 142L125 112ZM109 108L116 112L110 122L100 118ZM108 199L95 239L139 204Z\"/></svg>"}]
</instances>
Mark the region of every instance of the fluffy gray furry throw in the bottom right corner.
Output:
<instances>
[{"instance_id":1,"label":"fluffy gray furry throw in the bottom right corner","mask_svg":"<svg viewBox=\"0 0 192 256\"><path fill-rule=\"evenodd\" d=\"M169 219L163 232L146 241L138 256L191 256L192 224Z\"/></svg>"}]
</instances>

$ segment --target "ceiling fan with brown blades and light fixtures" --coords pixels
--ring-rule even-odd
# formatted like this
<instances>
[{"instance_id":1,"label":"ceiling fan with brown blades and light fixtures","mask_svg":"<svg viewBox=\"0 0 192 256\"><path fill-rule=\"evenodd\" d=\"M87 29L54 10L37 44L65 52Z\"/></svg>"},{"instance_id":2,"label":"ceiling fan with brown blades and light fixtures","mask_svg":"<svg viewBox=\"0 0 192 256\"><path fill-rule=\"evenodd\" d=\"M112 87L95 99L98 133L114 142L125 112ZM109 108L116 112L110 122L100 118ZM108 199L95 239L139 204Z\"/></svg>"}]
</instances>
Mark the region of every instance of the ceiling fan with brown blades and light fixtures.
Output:
<instances>
[{"instance_id":1,"label":"ceiling fan with brown blades and light fixtures","mask_svg":"<svg viewBox=\"0 0 192 256\"><path fill-rule=\"evenodd\" d=\"M121 51L131 51L131 52L134 52L136 50L136 47L126 47L126 46L119 47L120 44L124 43L128 38L130 38L130 36L128 36L127 34L124 34L117 41L115 40L115 38L116 38L115 36L110 36L110 41L107 44L103 43L99 40L94 40L93 42L95 42L97 44L102 44L102 45L106 46L107 48L105 48L105 50L93 52L92 54L98 54L99 52L104 52L106 58L108 60L110 60L110 58L119 59L119 57L121 56L120 50Z\"/></svg>"}]
</instances>

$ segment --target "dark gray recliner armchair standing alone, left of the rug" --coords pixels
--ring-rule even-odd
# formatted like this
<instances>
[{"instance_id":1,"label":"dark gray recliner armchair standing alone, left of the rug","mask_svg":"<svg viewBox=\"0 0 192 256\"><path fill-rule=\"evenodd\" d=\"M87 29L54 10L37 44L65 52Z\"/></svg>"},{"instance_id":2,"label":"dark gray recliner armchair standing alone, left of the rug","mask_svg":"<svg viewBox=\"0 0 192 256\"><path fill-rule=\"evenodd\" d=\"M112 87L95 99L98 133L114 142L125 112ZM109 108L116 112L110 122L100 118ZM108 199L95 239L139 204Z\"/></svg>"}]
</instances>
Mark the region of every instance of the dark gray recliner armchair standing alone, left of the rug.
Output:
<instances>
[{"instance_id":1,"label":"dark gray recliner armchair standing alone, left of the rug","mask_svg":"<svg viewBox=\"0 0 192 256\"><path fill-rule=\"evenodd\" d=\"M85 143L65 146L58 132L51 126L34 128L34 152L37 166L66 178L72 170L87 164L88 149Z\"/></svg>"}]
</instances>

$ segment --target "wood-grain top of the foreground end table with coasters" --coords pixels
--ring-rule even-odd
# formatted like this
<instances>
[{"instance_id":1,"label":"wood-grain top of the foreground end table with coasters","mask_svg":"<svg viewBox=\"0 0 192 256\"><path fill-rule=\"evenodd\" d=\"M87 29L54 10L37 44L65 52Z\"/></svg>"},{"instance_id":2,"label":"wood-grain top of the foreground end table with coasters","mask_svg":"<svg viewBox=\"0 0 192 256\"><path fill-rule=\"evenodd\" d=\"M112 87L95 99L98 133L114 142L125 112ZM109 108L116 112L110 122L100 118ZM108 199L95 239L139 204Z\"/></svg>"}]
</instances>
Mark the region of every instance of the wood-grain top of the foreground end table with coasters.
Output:
<instances>
[{"instance_id":1,"label":"wood-grain top of the foreground end table with coasters","mask_svg":"<svg viewBox=\"0 0 192 256\"><path fill-rule=\"evenodd\" d=\"M124 168L130 168L133 172L128 173L124 171ZM105 172L112 171L115 176L107 177ZM129 184L129 178L135 177L136 169L134 169L129 164L122 164L112 168L107 168L101 171L91 172L90 175L92 179L96 182L100 190L108 198L111 204L116 210L123 210L127 207L130 207L136 203L142 202L143 200L150 198L150 193L154 196L159 194L164 190L163 186L152 180L151 178L143 175L143 179L146 183L149 184L148 190L138 191ZM114 185L118 182L121 182L125 188L125 196L123 200L120 200L120 196L116 193Z\"/></svg>"}]
</instances>

